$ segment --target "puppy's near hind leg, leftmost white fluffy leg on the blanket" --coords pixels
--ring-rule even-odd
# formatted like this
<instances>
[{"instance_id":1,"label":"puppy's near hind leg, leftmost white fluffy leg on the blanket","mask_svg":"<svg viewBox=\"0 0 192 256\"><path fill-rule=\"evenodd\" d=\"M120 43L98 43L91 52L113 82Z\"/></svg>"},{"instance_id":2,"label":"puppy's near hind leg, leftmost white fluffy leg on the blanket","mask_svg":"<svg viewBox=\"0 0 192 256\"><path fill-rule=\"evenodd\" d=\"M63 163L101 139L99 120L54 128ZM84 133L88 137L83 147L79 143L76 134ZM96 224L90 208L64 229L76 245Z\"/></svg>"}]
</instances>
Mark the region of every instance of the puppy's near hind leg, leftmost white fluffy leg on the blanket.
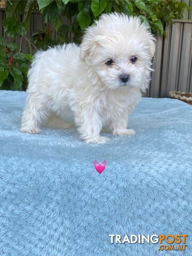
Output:
<instances>
[{"instance_id":1,"label":"puppy's near hind leg, leftmost white fluffy leg on the blanket","mask_svg":"<svg viewBox=\"0 0 192 256\"><path fill-rule=\"evenodd\" d=\"M46 108L34 95L28 95L26 107L21 118L21 132L41 133L41 124L46 118Z\"/></svg>"}]
</instances>

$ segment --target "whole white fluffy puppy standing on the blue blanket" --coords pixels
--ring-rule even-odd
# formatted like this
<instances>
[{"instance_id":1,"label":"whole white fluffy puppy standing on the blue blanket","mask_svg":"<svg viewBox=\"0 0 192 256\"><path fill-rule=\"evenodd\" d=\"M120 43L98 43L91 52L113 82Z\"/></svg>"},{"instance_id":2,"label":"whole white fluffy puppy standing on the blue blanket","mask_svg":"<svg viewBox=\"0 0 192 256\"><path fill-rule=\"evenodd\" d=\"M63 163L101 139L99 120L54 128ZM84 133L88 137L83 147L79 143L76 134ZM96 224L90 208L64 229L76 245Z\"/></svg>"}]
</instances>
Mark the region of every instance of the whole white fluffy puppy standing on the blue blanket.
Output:
<instances>
[{"instance_id":1,"label":"whole white fluffy puppy standing on the blue blanket","mask_svg":"<svg viewBox=\"0 0 192 256\"><path fill-rule=\"evenodd\" d=\"M69 128L73 117L87 143L105 143L102 126L114 135L132 135L128 114L149 84L154 37L139 18L103 14L85 30L82 44L65 44L35 54L28 73L21 131L41 124Z\"/></svg>"}]
</instances>

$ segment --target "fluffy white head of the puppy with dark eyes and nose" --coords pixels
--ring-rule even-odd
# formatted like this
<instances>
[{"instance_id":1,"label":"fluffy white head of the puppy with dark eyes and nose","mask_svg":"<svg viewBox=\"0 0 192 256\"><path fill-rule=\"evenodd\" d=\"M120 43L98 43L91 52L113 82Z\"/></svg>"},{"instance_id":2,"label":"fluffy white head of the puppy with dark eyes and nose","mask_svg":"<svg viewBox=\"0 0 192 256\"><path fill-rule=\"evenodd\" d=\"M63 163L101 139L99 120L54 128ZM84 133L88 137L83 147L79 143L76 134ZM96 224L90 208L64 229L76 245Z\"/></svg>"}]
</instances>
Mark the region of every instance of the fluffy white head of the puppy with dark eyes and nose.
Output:
<instances>
[{"instance_id":1,"label":"fluffy white head of the puppy with dark eyes and nose","mask_svg":"<svg viewBox=\"0 0 192 256\"><path fill-rule=\"evenodd\" d=\"M145 90L155 52L154 41L139 18L103 14L96 26L86 29L80 58L110 89L137 86Z\"/></svg>"}]
</instances>

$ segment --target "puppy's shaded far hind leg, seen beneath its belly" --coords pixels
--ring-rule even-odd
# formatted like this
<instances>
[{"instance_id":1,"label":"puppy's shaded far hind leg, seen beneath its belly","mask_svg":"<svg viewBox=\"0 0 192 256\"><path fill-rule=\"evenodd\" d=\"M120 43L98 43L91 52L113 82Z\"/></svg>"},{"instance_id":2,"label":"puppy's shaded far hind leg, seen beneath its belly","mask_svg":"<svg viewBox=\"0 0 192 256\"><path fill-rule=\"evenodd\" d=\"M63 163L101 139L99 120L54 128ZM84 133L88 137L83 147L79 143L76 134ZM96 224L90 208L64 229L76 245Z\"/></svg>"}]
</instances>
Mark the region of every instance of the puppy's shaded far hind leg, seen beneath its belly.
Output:
<instances>
[{"instance_id":1,"label":"puppy's shaded far hind leg, seen beneath its belly","mask_svg":"<svg viewBox=\"0 0 192 256\"><path fill-rule=\"evenodd\" d=\"M51 115L47 118L46 124L48 127L53 129L69 129L72 125L65 122L62 117L51 113Z\"/></svg>"}]
</instances>

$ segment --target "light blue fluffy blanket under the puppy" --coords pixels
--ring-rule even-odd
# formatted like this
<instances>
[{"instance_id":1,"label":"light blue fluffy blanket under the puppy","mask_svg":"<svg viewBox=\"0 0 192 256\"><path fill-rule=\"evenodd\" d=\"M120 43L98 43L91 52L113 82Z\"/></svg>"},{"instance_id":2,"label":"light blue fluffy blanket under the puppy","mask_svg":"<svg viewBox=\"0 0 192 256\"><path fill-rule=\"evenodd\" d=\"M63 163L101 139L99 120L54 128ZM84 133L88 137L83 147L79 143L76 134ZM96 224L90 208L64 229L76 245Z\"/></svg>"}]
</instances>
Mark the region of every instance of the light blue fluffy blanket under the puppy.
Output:
<instances>
[{"instance_id":1,"label":"light blue fluffy blanket under the puppy","mask_svg":"<svg viewBox=\"0 0 192 256\"><path fill-rule=\"evenodd\" d=\"M0 255L192 255L191 106L143 98L134 137L86 145L75 129L21 133L25 97L0 91ZM101 174L94 160L107 161ZM188 246L111 244L110 234L187 234Z\"/></svg>"}]
</instances>

